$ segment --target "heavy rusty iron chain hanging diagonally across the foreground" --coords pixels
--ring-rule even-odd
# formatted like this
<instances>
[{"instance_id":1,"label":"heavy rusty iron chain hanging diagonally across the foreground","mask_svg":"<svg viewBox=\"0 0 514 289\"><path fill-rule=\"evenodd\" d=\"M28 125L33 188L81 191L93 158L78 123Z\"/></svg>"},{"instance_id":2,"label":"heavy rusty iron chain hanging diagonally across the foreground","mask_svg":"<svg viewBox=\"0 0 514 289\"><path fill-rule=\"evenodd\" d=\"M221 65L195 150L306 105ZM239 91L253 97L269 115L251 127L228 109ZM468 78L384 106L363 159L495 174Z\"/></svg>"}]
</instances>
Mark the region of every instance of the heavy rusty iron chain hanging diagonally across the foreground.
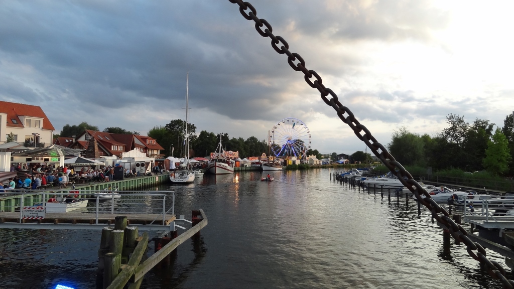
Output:
<instances>
[{"instance_id":1,"label":"heavy rusty iron chain hanging diagonally across the foreground","mask_svg":"<svg viewBox=\"0 0 514 289\"><path fill-rule=\"evenodd\" d=\"M435 218L440 224L444 225L456 241L462 242L467 246L469 256L479 261L494 279L500 279L504 288L512 289L514 287L514 281L508 280L505 277L505 269L498 262L487 259L484 247L469 239L468 232L461 225L456 224L450 218L448 211L437 204L430 194L413 179L412 175L403 168L398 161L396 161L396 159L380 142L375 139L375 137L373 137L371 132L364 127L363 124L360 124L352 111L341 104L334 91L323 85L322 79L316 71L308 70L305 67L305 61L303 58L298 53L289 51L289 45L287 42L282 37L276 36L272 33L273 28L271 28L271 25L266 20L259 19L257 17L257 11L255 8L250 3L243 2L242 0L229 1L233 4L239 5L239 12L243 17L245 17L245 19L253 20L253 22L255 22L255 29L262 37L271 38L271 47L273 47L275 51L280 54L287 55L287 63L289 63L291 68L296 71L302 71L307 84L310 87L318 89L321 94L321 99L323 99L326 104L334 107L334 110L337 112L337 116L339 116L344 123L348 124L348 126L354 131L355 135L362 140L378 158L380 158L383 164L398 177L404 186L416 195L417 200L420 200L421 204L432 212L433 218ZM295 61L297 61L296 64ZM311 80L313 77L315 78L314 82ZM332 98L328 99L328 95ZM424 194L426 197L422 198L420 194Z\"/></svg>"}]
</instances>

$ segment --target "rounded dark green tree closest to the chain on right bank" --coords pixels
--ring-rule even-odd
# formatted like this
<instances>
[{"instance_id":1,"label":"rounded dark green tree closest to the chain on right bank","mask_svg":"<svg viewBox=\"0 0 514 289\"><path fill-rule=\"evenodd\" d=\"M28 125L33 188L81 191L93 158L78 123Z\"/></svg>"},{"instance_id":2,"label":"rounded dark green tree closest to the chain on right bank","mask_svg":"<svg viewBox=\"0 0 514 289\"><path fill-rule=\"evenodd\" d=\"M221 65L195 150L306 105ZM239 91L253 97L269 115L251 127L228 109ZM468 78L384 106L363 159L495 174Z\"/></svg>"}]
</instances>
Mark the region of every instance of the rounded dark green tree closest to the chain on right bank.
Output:
<instances>
[{"instance_id":1,"label":"rounded dark green tree closest to the chain on right bank","mask_svg":"<svg viewBox=\"0 0 514 289\"><path fill-rule=\"evenodd\" d=\"M405 127L393 132L389 152L404 166L425 166L424 141L418 134L411 133Z\"/></svg>"}]
</instances>

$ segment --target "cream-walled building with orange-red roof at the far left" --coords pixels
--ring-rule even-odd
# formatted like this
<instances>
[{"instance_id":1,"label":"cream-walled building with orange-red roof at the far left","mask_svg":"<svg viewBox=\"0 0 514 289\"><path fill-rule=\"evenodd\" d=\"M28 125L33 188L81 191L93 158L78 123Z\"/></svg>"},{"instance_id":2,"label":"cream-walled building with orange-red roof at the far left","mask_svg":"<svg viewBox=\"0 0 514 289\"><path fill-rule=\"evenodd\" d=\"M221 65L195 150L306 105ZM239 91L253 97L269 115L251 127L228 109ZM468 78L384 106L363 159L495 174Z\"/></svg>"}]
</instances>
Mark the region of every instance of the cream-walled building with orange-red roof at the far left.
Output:
<instances>
[{"instance_id":1,"label":"cream-walled building with orange-red roof at the far left","mask_svg":"<svg viewBox=\"0 0 514 289\"><path fill-rule=\"evenodd\" d=\"M55 129L40 106L0 101L0 143L11 133L27 148L52 145Z\"/></svg>"}]
</instances>

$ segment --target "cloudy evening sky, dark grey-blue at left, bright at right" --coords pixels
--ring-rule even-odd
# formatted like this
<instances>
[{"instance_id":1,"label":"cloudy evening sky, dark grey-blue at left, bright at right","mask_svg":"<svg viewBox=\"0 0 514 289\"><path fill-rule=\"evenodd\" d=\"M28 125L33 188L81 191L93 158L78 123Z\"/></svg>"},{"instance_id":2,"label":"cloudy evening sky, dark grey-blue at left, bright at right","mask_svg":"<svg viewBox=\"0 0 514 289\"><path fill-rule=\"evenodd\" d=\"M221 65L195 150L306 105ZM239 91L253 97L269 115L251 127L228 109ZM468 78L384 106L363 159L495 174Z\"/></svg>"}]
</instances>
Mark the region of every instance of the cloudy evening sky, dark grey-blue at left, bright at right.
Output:
<instances>
[{"instance_id":1,"label":"cloudy evening sky, dark grey-blue at left, bright at right","mask_svg":"<svg viewBox=\"0 0 514 289\"><path fill-rule=\"evenodd\" d=\"M253 0L260 18L384 145L449 113L500 127L514 110L512 1ZM304 121L313 148L364 144L228 0L3 1L0 99L146 134L185 118L230 137Z\"/></svg>"}]
</instances>

